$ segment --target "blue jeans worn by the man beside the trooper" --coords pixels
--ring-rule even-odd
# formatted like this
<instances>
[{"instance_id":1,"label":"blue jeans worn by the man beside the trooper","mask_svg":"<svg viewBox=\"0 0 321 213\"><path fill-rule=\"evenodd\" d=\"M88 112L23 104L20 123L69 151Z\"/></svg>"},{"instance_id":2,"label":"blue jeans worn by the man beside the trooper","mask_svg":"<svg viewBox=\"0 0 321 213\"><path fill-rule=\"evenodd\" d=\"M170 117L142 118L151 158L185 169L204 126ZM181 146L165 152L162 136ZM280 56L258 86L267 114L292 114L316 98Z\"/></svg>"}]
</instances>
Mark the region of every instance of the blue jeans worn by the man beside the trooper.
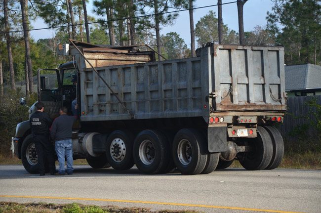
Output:
<instances>
[{"instance_id":1,"label":"blue jeans worn by the man beside the trooper","mask_svg":"<svg viewBox=\"0 0 321 213\"><path fill-rule=\"evenodd\" d=\"M59 161L59 173L65 174L65 156L67 160L67 173L72 174L73 168L73 143L71 139L58 140L55 142L55 150Z\"/></svg>"}]
</instances>

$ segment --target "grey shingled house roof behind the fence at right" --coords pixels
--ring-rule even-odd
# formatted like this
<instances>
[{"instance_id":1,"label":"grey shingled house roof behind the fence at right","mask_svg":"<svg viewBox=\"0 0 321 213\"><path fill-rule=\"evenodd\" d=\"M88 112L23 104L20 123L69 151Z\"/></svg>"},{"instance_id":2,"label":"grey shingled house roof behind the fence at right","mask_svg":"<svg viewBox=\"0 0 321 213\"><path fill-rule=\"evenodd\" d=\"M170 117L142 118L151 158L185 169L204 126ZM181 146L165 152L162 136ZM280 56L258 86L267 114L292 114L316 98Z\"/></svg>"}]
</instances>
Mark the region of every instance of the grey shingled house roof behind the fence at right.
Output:
<instances>
[{"instance_id":1,"label":"grey shingled house roof behind the fence at right","mask_svg":"<svg viewBox=\"0 0 321 213\"><path fill-rule=\"evenodd\" d=\"M321 88L321 66L300 64L285 66L285 91Z\"/></svg>"}]
</instances>

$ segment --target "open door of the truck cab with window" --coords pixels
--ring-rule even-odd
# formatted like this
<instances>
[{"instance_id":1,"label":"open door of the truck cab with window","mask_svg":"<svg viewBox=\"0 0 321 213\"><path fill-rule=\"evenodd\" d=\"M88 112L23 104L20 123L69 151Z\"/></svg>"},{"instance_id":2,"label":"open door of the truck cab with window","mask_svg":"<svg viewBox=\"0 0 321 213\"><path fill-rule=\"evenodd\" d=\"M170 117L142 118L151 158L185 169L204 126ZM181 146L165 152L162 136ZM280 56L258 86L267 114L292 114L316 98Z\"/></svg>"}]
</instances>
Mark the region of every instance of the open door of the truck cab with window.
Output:
<instances>
[{"instance_id":1,"label":"open door of the truck cab with window","mask_svg":"<svg viewBox=\"0 0 321 213\"><path fill-rule=\"evenodd\" d=\"M59 108L62 106L59 70L39 69L37 77L38 101L44 104L45 112L55 119L59 116Z\"/></svg>"}]
</instances>

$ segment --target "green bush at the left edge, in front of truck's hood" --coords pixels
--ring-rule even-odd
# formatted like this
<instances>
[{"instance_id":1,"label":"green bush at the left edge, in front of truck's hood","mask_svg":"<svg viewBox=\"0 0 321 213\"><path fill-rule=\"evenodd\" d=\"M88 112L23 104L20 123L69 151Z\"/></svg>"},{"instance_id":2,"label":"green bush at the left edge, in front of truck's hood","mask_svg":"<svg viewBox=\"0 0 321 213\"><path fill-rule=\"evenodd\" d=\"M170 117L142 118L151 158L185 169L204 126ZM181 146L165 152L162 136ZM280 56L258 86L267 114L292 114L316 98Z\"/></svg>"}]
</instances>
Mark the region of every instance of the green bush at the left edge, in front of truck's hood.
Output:
<instances>
[{"instance_id":1,"label":"green bush at the left edge, in front of truck's hood","mask_svg":"<svg viewBox=\"0 0 321 213\"><path fill-rule=\"evenodd\" d=\"M29 119L28 108L19 103L24 96L20 88L5 90L4 95L0 96L0 154L4 156L10 153L11 137L15 136L17 124ZM36 99L36 94L31 95L27 105L32 105Z\"/></svg>"}]
</instances>

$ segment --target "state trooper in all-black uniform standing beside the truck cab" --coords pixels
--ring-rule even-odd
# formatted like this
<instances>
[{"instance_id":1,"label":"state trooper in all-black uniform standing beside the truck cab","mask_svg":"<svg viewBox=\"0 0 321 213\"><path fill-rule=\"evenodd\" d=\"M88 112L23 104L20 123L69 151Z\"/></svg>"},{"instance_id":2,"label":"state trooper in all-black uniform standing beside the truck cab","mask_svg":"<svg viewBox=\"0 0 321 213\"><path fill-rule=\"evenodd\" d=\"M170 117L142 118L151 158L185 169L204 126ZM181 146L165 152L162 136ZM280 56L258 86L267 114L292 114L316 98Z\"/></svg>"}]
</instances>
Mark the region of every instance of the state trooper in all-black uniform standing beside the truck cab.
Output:
<instances>
[{"instance_id":1,"label":"state trooper in all-black uniform standing beside the truck cab","mask_svg":"<svg viewBox=\"0 0 321 213\"><path fill-rule=\"evenodd\" d=\"M49 164L50 174L56 172L55 159L53 156L52 144L49 141L49 127L52 124L47 113L44 113L44 105L41 102L36 104L37 111L30 117L30 125L32 138L35 142L36 151L38 154L38 165L40 176L45 173L45 160Z\"/></svg>"}]
</instances>

